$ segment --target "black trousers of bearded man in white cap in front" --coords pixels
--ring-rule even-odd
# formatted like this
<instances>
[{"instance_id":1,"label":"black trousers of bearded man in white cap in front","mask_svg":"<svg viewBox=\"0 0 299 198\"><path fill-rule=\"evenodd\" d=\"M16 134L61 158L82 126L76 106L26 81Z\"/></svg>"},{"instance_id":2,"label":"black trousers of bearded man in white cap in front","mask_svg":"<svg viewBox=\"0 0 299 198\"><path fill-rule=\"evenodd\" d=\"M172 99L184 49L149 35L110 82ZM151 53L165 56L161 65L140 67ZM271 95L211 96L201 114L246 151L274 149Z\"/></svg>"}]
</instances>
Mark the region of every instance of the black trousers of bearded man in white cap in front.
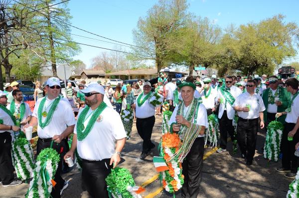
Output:
<instances>
[{"instance_id":1,"label":"black trousers of bearded man in white cap in front","mask_svg":"<svg viewBox=\"0 0 299 198\"><path fill-rule=\"evenodd\" d=\"M110 159L88 161L82 159L82 182L93 198L108 198L105 179L110 174Z\"/></svg>"}]
</instances>

